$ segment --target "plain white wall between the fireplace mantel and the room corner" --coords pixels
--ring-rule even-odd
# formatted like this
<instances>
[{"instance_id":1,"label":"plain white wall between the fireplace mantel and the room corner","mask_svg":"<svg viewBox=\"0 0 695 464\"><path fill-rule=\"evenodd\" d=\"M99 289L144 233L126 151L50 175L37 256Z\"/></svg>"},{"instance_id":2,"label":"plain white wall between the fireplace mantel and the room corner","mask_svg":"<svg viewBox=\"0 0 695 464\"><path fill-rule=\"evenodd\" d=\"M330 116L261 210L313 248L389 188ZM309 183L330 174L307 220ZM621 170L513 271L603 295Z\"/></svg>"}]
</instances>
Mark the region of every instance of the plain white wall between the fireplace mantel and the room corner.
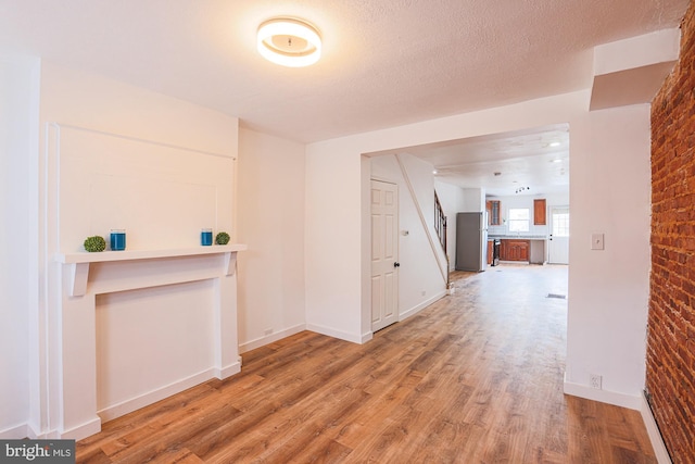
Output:
<instances>
[{"instance_id":1,"label":"plain white wall between the fireplace mantel and the room corner","mask_svg":"<svg viewBox=\"0 0 695 464\"><path fill-rule=\"evenodd\" d=\"M239 130L239 343L304 329L304 145ZM269 333L269 334L268 334Z\"/></svg>"}]
</instances>

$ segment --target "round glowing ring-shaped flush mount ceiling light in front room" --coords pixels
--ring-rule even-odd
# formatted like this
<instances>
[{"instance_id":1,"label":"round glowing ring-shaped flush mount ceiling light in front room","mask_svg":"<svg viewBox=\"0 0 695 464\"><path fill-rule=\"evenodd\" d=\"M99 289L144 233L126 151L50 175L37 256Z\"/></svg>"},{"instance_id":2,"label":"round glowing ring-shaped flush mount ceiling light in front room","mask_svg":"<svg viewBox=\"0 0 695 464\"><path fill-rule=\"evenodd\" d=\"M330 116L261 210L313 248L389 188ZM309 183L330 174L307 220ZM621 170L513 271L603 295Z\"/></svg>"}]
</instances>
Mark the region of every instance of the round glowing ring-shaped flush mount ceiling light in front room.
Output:
<instances>
[{"instance_id":1,"label":"round glowing ring-shaped flush mount ceiling light in front room","mask_svg":"<svg viewBox=\"0 0 695 464\"><path fill-rule=\"evenodd\" d=\"M292 17L276 17L258 26L258 53L282 66L308 66L321 57L321 38L311 24Z\"/></svg>"}]
</instances>

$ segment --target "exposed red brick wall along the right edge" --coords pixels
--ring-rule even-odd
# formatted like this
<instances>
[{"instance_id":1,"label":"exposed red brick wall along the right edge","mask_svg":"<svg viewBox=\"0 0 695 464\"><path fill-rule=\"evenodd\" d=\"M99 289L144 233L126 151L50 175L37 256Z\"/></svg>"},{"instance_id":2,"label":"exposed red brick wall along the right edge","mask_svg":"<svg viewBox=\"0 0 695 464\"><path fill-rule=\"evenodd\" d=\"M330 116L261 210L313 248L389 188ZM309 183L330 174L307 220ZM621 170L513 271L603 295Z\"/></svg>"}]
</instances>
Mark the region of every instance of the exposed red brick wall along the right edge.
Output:
<instances>
[{"instance_id":1,"label":"exposed red brick wall along the right edge","mask_svg":"<svg viewBox=\"0 0 695 464\"><path fill-rule=\"evenodd\" d=\"M695 463L695 8L652 103L652 276L646 387L674 463Z\"/></svg>"}]
</instances>

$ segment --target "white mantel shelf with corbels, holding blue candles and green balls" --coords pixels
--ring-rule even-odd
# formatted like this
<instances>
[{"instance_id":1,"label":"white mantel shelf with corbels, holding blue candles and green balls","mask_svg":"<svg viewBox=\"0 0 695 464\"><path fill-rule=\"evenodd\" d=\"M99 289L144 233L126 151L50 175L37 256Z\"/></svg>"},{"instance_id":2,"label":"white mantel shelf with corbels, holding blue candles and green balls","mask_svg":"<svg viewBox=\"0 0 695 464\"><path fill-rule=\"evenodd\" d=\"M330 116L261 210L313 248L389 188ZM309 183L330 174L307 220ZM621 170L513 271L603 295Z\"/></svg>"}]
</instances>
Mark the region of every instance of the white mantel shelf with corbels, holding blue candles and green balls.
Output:
<instances>
[{"instance_id":1,"label":"white mantel shelf with corbels, holding blue candles and green balls","mask_svg":"<svg viewBox=\"0 0 695 464\"><path fill-rule=\"evenodd\" d=\"M172 258L223 254L225 256L225 274L231 276L237 268L237 252L247 250L245 244L215 244L210 247L177 248L169 250L124 250L102 252L55 253L54 260L70 266L68 293L81 297L87 292L90 263L124 262L135 260L160 260Z\"/></svg>"}]
</instances>

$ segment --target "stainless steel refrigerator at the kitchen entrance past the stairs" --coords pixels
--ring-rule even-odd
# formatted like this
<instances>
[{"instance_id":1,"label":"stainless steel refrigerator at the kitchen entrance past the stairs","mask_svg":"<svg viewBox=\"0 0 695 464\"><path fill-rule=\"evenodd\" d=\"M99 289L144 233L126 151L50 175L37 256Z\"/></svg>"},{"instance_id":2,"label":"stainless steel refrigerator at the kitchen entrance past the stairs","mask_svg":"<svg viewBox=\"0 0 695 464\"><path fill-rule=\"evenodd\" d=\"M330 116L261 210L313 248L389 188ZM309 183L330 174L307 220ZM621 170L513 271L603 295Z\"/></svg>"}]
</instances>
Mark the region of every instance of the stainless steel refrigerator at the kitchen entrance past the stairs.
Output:
<instances>
[{"instance_id":1,"label":"stainless steel refrigerator at the kitchen entrance past the stairs","mask_svg":"<svg viewBox=\"0 0 695 464\"><path fill-rule=\"evenodd\" d=\"M488 264L486 213L456 215L456 269L485 271Z\"/></svg>"}]
</instances>

